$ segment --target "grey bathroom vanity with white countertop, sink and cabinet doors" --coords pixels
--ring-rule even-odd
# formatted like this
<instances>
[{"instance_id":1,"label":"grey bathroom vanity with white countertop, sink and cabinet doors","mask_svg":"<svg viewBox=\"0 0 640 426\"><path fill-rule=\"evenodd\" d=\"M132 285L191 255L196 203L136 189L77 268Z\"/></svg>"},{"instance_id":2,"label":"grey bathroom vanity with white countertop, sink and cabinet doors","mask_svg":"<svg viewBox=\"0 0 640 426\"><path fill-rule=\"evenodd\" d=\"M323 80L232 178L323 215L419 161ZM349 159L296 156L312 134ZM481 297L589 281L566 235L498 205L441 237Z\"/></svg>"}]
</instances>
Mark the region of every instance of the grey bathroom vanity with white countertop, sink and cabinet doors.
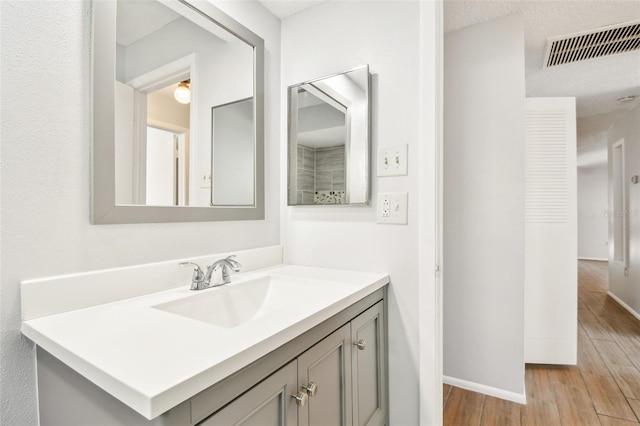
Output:
<instances>
[{"instance_id":1,"label":"grey bathroom vanity with white countertop, sink and cabinet doors","mask_svg":"<svg viewBox=\"0 0 640 426\"><path fill-rule=\"evenodd\" d=\"M387 424L388 282L276 265L27 319L41 424Z\"/></svg>"}]
</instances>

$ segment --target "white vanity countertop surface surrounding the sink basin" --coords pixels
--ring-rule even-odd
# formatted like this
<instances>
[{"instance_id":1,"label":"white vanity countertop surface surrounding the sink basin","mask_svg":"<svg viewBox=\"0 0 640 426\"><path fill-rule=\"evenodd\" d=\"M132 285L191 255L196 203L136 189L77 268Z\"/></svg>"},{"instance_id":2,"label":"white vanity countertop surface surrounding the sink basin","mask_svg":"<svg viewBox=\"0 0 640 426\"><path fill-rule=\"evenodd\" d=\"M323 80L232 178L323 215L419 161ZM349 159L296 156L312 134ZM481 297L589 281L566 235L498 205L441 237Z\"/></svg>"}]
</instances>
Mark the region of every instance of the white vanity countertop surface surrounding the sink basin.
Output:
<instances>
[{"instance_id":1,"label":"white vanity countertop surface surrounding the sink basin","mask_svg":"<svg viewBox=\"0 0 640 426\"><path fill-rule=\"evenodd\" d=\"M154 308L265 275L299 281L299 303L234 328ZM310 282L323 291L305 299ZM152 419L388 282L385 274L281 265L233 275L231 284L201 292L185 286L24 321L22 332Z\"/></svg>"}]
</instances>

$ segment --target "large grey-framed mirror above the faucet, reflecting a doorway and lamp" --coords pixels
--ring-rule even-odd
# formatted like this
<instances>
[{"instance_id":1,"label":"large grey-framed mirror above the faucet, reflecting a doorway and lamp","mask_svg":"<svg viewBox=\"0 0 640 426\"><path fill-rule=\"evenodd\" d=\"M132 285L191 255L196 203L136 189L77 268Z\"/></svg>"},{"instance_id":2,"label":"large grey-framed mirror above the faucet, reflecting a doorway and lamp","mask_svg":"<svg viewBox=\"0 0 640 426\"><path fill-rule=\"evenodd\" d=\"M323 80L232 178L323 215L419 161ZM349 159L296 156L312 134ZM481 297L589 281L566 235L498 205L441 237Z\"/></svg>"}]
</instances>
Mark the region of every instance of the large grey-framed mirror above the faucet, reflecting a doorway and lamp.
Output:
<instances>
[{"instance_id":1,"label":"large grey-framed mirror above the faucet, reflecting a doorway and lamp","mask_svg":"<svg viewBox=\"0 0 640 426\"><path fill-rule=\"evenodd\" d=\"M207 1L93 18L92 223L264 219L264 41Z\"/></svg>"}]
</instances>

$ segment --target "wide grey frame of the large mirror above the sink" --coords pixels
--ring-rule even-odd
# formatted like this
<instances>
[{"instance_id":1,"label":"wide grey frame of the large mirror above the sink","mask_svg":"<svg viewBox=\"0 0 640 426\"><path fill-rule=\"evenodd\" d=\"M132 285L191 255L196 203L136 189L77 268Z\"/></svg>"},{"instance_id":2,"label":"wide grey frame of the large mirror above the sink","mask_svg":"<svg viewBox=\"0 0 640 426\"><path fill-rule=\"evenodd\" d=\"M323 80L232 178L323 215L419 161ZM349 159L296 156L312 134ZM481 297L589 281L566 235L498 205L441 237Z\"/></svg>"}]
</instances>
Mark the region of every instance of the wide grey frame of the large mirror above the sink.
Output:
<instances>
[{"instance_id":1,"label":"wide grey frame of the large mirror above the sink","mask_svg":"<svg viewBox=\"0 0 640 426\"><path fill-rule=\"evenodd\" d=\"M160 1L160 0L158 0ZM116 5L93 1L91 223L164 223L264 219L264 40L207 1L170 0L253 47L255 193L253 206L146 206L115 202ZM166 0L162 0L166 2Z\"/></svg>"}]
</instances>

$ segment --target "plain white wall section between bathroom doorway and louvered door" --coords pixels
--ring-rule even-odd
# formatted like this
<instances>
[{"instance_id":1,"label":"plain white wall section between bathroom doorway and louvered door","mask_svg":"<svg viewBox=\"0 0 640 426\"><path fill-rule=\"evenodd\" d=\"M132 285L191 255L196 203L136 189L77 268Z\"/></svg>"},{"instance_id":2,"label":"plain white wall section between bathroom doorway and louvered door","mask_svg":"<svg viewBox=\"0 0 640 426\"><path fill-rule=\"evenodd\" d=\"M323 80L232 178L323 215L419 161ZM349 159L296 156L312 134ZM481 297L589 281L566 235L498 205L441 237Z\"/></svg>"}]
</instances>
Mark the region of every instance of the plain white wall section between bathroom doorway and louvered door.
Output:
<instances>
[{"instance_id":1,"label":"plain white wall section between bathroom doorway and louvered door","mask_svg":"<svg viewBox=\"0 0 640 426\"><path fill-rule=\"evenodd\" d=\"M522 18L445 34L444 71L445 382L521 400Z\"/></svg>"}]
</instances>

